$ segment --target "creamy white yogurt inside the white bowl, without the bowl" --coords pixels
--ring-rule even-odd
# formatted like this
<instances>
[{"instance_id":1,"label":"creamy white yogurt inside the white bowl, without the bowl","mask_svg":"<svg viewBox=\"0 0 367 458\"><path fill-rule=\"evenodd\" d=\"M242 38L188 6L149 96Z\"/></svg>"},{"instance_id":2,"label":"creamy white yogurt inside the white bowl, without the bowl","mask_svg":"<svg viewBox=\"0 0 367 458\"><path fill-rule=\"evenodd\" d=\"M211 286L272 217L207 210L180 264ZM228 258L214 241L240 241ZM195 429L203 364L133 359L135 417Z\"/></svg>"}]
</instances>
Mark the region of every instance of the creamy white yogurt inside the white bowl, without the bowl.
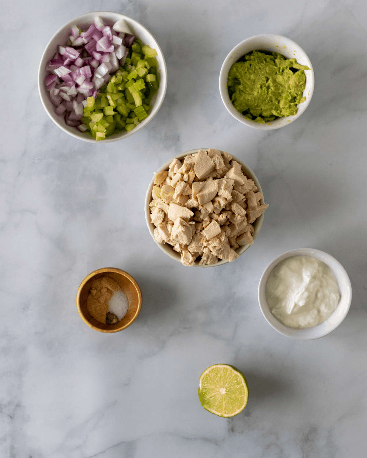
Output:
<instances>
[{"instance_id":1,"label":"creamy white yogurt inside the white bowl, without the bowl","mask_svg":"<svg viewBox=\"0 0 367 458\"><path fill-rule=\"evenodd\" d=\"M272 269L265 298L284 326L303 328L325 321L338 306L340 292L325 263L308 256L291 256Z\"/></svg>"}]
</instances>

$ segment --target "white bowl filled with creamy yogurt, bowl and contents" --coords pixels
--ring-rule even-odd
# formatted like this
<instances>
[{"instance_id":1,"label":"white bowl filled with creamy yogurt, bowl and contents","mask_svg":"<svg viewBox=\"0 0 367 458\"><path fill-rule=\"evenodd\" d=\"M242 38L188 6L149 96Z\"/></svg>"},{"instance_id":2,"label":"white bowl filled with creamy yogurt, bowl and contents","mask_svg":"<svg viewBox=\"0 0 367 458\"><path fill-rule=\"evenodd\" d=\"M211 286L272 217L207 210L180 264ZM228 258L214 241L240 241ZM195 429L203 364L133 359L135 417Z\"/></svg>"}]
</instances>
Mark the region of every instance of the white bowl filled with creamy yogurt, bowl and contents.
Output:
<instances>
[{"instance_id":1,"label":"white bowl filled with creamy yogurt, bowl and contents","mask_svg":"<svg viewBox=\"0 0 367 458\"><path fill-rule=\"evenodd\" d=\"M339 326L352 300L344 267L312 248L286 251L261 275L262 314L278 333L299 340L323 337Z\"/></svg>"}]
</instances>

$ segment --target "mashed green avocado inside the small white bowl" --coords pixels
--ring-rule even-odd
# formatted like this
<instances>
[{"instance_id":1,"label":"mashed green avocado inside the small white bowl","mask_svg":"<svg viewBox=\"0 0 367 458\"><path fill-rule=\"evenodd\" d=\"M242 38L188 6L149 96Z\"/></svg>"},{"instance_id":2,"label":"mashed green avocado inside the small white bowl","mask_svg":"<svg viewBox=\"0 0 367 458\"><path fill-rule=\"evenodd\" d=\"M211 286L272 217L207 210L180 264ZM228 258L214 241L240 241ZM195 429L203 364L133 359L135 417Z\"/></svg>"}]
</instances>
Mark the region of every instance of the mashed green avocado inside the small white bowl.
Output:
<instances>
[{"instance_id":1,"label":"mashed green avocado inside the small white bowl","mask_svg":"<svg viewBox=\"0 0 367 458\"><path fill-rule=\"evenodd\" d=\"M260 124L297 113L304 102L306 65L270 51L251 51L228 73L228 93L234 108Z\"/></svg>"}]
</instances>

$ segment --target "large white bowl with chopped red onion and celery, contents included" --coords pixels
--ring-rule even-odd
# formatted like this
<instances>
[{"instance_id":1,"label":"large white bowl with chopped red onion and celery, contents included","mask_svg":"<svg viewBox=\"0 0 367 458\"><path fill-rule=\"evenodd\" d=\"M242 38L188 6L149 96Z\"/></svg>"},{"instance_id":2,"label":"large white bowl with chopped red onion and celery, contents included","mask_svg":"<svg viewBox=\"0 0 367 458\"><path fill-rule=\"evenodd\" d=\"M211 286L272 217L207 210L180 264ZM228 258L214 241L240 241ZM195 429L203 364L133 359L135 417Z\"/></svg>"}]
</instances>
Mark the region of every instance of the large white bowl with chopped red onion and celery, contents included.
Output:
<instances>
[{"instance_id":1,"label":"large white bowl with chopped red onion and celery, contents included","mask_svg":"<svg viewBox=\"0 0 367 458\"><path fill-rule=\"evenodd\" d=\"M38 87L44 109L63 131L86 142L116 142L142 129L159 110L166 62L139 22L96 11L51 38Z\"/></svg>"}]
</instances>

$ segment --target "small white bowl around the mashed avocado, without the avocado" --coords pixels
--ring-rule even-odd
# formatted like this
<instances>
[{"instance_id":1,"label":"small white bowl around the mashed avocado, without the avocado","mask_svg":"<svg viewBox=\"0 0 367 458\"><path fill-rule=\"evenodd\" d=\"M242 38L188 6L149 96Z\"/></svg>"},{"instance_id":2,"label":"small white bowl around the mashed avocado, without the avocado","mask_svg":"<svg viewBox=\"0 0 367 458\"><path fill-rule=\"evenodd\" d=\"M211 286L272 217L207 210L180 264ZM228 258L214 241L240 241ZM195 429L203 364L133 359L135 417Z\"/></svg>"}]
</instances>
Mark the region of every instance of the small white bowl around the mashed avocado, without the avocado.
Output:
<instances>
[{"instance_id":1,"label":"small white bowl around the mashed avocado, without the avocado","mask_svg":"<svg viewBox=\"0 0 367 458\"><path fill-rule=\"evenodd\" d=\"M272 51L284 55L287 59L295 58L301 65L307 65L310 70L305 70L306 74L306 87L303 96L306 97L305 102L298 105L297 113L293 116L285 116L278 118L273 121L269 121L266 124L259 124L254 121L250 121L245 118L242 113L237 111L229 98L227 80L228 72L232 65L239 60L243 55L251 51L260 50ZM289 123L293 122L305 111L308 104L310 103L314 87L314 74L310 59L307 57L305 51L298 46L294 41L289 38L282 37L281 35L255 35L254 37L247 38L246 40L239 43L232 49L232 51L225 58L221 72L219 75L219 91L221 93L222 101L224 106L228 109L229 113L232 114L236 120L243 124L254 127L255 129L272 130L284 127Z\"/></svg>"}]
</instances>

